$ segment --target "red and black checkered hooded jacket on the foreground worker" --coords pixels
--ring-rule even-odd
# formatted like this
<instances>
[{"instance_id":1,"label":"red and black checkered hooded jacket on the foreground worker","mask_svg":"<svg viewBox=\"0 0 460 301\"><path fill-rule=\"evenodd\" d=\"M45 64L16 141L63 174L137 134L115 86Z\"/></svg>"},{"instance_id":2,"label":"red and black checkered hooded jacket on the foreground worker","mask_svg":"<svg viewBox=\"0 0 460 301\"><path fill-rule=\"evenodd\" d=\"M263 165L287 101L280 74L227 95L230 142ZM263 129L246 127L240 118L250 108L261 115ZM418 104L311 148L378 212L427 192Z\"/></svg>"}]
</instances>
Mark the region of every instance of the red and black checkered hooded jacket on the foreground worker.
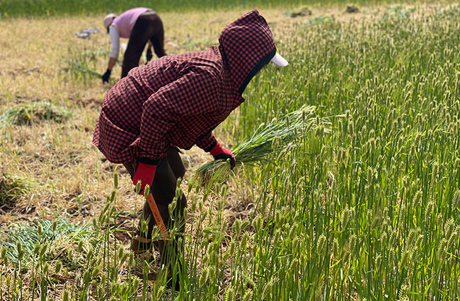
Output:
<instances>
[{"instance_id":1,"label":"red and black checkered hooded jacket on the foreground worker","mask_svg":"<svg viewBox=\"0 0 460 301\"><path fill-rule=\"evenodd\" d=\"M275 52L267 22L251 11L224 28L217 46L134 68L105 95L93 143L113 163L155 162L171 145L210 151L212 130Z\"/></svg>"}]
</instances>

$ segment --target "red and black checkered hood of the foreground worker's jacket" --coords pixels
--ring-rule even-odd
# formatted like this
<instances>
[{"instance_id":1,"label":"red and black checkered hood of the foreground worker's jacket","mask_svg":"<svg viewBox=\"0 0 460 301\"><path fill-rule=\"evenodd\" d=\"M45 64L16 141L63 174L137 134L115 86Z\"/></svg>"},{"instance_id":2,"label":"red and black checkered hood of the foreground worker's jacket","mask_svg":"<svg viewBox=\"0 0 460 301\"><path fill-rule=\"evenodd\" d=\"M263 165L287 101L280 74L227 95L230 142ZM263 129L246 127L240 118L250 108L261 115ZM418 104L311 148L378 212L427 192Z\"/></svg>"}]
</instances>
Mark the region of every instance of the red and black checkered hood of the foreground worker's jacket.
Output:
<instances>
[{"instance_id":1,"label":"red and black checkered hood of the foreground worker's jacket","mask_svg":"<svg viewBox=\"0 0 460 301\"><path fill-rule=\"evenodd\" d=\"M226 26L219 37L224 68L241 95L255 73L276 53L267 21L253 10Z\"/></svg>"}]
</instances>

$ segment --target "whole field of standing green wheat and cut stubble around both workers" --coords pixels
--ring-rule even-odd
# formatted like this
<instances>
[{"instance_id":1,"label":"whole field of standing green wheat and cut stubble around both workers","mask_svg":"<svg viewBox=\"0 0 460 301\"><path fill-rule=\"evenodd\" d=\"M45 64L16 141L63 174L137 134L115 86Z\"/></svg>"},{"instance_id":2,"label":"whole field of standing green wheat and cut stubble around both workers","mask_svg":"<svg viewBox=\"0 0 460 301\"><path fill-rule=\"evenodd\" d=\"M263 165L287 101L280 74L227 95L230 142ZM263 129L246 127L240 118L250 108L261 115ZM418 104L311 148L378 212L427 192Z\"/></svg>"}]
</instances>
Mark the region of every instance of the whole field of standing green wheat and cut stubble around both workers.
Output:
<instances>
[{"instance_id":1,"label":"whole field of standing green wheat and cut stubble around both workers","mask_svg":"<svg viewBox=\"0 0 460 301\"><path fill-rule=\"evenodd\" d=\"M460 299L459 4L80 2L0 0L1 300ZM168 54L257 8L289 61L214 131L233 171L183 151L180 291L130 252L144 200L91 144L122 54L103 85L108 35L75 33L132 6Z\"/></svg>"}]
</instances>

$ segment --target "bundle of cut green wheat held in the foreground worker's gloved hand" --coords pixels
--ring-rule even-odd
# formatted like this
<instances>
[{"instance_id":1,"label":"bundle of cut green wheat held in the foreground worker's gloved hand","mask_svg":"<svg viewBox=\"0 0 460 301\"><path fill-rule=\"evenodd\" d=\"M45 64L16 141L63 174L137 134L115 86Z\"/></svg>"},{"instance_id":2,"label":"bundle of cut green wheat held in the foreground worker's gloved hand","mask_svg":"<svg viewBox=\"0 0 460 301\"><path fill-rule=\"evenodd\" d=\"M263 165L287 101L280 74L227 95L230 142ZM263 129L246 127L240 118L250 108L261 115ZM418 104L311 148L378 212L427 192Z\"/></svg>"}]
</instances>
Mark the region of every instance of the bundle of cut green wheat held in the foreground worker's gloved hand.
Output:
<instances>
[{"instance_id":1,"label":"bundle of cut green wheat held in the foreground worker's gloved hand","mask_svg":"<svg viewBox=\"0 0 460 301\"><path fill-rule=\"evenodd\" d=\"M232 152L236 166L251 165L256 162L270 160L270 155L285 149L289 143L299 141L311 131L321 127L325 132L328 122L315 116L316 107L304 105L299 110L273 120L270 124L261 124L248 141L241 143ZM195 169L195 177L203 179L218 179L229 171L229 165L224 160L204 163Z\"/></svg>"}]
</instances>

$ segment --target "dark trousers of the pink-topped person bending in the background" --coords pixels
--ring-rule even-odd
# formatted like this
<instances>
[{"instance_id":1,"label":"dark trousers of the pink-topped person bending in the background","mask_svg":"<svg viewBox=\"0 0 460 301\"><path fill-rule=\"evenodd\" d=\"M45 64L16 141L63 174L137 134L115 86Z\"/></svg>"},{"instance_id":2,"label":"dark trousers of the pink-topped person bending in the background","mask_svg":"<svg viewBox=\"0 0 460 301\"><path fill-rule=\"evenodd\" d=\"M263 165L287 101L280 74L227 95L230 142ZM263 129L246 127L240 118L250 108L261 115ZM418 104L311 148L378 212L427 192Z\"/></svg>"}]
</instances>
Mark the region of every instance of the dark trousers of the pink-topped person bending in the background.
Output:
<instances>
[{"instance_id":1,"label":"dark trousers of the pink-topped person bending in the background","mask_svg":"<svg viewBox=\"0 0 460 301\"><path fill-rule=\"evenodd\" d=\"M154 46L154 51L158 57L166 55L163 49L164 30L160 17L153 11L146 11L137 18L122 65L122 78L134 67L139 66L139 59L148 41Z\"/></svg>"}]
</instances>

